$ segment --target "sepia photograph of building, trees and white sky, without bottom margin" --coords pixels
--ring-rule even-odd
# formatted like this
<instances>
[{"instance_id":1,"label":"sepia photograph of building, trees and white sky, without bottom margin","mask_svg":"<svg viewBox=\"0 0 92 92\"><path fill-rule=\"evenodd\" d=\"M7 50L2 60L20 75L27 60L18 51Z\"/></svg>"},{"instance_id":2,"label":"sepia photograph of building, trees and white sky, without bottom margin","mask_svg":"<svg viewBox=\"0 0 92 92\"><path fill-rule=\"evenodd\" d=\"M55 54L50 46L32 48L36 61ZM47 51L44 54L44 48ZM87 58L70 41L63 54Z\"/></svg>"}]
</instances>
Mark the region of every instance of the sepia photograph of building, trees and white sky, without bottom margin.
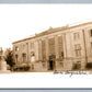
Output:
<instances>
[{"instance_id":1,"label":"sepia photograph of building, trees and white sky, without bottom margin","mask_svg":"<svg viewBox=\"0 0 92 92\"><path fill-rule=\"evenodd\" d=\"M92 4L1 4L1 71L92 69Z\"/></svg>"}]
</instances>

